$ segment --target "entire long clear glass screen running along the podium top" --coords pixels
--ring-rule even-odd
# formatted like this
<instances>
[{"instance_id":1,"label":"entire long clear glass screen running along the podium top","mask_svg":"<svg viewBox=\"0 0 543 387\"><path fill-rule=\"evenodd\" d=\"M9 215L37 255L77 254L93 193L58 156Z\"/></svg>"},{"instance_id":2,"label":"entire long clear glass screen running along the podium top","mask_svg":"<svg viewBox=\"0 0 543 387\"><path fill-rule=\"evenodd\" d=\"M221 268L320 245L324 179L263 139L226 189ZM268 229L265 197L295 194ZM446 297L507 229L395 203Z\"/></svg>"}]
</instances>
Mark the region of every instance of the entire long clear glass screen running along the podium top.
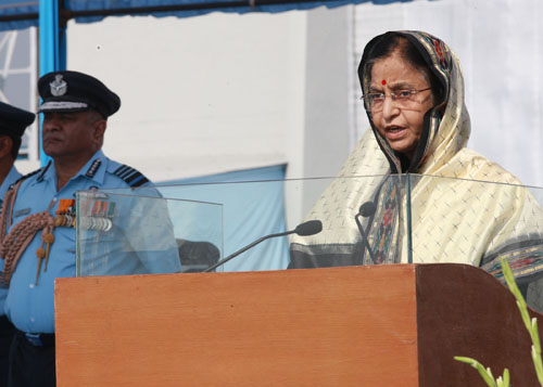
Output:
<instances>
[{"instance_id":1,"label":"entire long clear glass screen running along the podium top","mask_svg":"<svg viewBox=\"0 0 543 387\"><path fill-rule=\"evenodd\" d=\"M163 197L156 197L154 189L154 197L141 190L79 194L79 275L101 274L104 268L112 274L143 272L134 262L134 267L121 265L128 254L122 238L137 241L137 247L144 245L151 256L167 256L164 251L172 249L172 241L182 240L197 243L185 245L186 249L177 243L182 271L203 271L243 249L216 271L456 262L482 267L501 279L498 258L505 257L523 291L540 292L540 188L396 175L162 185L156 190ZM92 224L92 208L100 195L122 204L124 212L114 215L114 232L92 230L85 223ZM315 235L274 236L244 250L266 235L294 230L308 220L320 220L323 230ZM210 246L218 255L204 259ZM141 249L136 249L138 255ZM198 258L191 261L187 255Z\"/></svg>"}]
</instances>

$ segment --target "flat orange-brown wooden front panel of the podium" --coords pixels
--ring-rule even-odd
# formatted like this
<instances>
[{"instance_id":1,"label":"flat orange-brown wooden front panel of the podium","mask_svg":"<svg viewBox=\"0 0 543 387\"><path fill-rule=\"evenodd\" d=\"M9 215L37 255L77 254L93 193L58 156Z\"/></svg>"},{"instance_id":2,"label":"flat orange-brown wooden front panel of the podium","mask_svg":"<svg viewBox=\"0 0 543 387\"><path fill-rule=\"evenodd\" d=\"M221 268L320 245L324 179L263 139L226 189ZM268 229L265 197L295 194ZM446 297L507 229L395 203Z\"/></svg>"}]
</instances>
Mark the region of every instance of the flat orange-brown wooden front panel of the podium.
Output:
<instances>
[{"instance_id":1,"label":"flat orange-brown wooden front panel of the podium","mask_svg":"<svg viewBox=\"0 0 543 387\"><path fill-rule=\"evenodd\" d=\"M58 385L417 386L415 268L58 279Z\"/></svg>"}]
</instances>

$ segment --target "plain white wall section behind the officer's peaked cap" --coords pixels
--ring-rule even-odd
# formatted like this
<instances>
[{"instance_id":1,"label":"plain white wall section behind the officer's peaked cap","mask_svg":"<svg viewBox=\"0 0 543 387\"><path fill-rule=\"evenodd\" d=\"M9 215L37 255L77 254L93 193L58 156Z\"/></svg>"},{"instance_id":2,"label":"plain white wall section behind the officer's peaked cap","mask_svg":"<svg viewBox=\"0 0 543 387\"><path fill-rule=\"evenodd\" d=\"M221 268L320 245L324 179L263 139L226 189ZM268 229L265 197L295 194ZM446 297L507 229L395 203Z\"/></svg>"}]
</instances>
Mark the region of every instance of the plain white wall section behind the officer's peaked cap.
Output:
<instances>
[{"instance_id":1,"label":"plain white wall section behind the officer's peaked cap","mask_svg":"<svg viewBox=\"0 0 543 387\"><path fill-rule=\"evenodd\" d=\"M122 99L104 151L154 181L289 162L302 176L305 12L68 25L67 67Z\"/></svg>"}]
</instances>

